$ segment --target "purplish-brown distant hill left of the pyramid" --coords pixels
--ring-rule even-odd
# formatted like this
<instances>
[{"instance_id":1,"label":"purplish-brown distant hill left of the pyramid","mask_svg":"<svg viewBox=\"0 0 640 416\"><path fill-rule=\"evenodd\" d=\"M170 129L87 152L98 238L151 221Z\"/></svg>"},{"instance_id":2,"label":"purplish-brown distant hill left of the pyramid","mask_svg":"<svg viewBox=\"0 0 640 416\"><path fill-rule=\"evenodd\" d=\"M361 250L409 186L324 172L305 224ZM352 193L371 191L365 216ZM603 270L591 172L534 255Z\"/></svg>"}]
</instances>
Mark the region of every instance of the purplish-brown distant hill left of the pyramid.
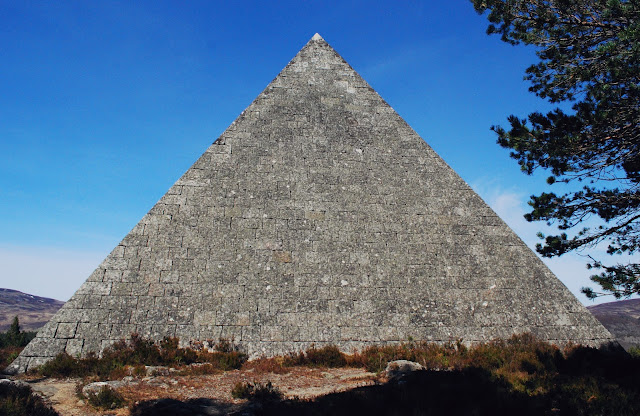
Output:
<instances>
[{"instance_id":1,"label":"purplish-brown distant hill left of the pyramid","mask_svg":"<svg viewBox=\"0 0 640 416\"><path fill-rule=\"evenodd\" d=\"M35 331L43 327L62 305L64 302L59 300L0 288L0 331L9 329L15 316L22 330Z\"/></svg>"}]
</instances>

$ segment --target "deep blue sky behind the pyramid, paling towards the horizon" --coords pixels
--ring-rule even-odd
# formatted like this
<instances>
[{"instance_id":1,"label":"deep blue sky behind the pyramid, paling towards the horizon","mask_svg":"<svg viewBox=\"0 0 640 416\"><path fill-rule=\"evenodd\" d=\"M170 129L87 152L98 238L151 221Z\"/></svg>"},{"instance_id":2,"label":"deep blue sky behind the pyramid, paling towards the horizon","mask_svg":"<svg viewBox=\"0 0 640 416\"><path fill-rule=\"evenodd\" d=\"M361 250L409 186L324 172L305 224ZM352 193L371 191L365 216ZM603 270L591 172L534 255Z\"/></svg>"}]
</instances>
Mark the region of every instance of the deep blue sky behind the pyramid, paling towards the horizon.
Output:
<instances>
[{"instance_id":1,"label":"deep blue sky behind the pyramid, paling towards the horizon","mask_svg":"<svg viewBox=\"0 0 640 416\"><path fill-rule=\"evenodd\" d=\"M533 247L544 175L489 127L551 107L486 26L464 0L0 1L0 287L67 300L316 32ZM584 263L547 261L588 303Z\"/></svg>"}]
</instances>

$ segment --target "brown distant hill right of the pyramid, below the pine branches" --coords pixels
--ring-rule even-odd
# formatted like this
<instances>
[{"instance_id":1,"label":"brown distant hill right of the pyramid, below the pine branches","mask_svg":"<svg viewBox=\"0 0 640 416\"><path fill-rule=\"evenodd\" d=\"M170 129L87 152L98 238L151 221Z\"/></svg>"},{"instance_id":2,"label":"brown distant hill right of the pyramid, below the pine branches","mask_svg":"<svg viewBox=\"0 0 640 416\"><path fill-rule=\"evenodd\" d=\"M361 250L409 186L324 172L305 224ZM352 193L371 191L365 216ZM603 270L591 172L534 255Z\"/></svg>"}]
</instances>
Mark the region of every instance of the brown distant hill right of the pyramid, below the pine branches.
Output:
<instances>
[{"instance_id":1,"label":"brown distant hill right of the pyramid, below the pine branches","mask_svg":"<svg viewBox=\"0 0 640 416\"><path fill-rule=\"evenodd\" d=\"M624 348L640 346L640 299L602 303L587 309Z\"/></svg>"}]
</instances>

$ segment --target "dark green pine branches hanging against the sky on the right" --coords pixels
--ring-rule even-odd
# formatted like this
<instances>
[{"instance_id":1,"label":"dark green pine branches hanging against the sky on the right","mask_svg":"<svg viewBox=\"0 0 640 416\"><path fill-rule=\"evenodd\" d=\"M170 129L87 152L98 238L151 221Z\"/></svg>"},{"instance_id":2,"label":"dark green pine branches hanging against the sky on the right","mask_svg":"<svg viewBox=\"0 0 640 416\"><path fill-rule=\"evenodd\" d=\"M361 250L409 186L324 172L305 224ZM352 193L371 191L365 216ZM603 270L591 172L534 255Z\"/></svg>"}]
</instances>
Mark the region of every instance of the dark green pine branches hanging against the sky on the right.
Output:
<instances>
[{"instance_id":1,"label":"dark green pine branches hanging against the sky on the right","mask_svg":"<svg viewBox=\"0 0 640 416\"><path fill-rule=\"evenodd\" d=\"M550 173L562 192L532 195L528 221L556 224L540 237L545 257L607 244L609 254L640 249L640 0L473 0L488 11L489 34L537 47L526 70L529 90L551 103L571 103L510 127L493 126L498 144L511 150L526 174ZM574 184L558 185L558 184ZM567 191L569 190L569 191ZM595 224L595 225L593 225ZM569 233L571 232L571 233ZM616 298L640 293L640 266L605 266L591 279ZM598 293L583 288L589 297Z\"/></svg>"}]
</instances>

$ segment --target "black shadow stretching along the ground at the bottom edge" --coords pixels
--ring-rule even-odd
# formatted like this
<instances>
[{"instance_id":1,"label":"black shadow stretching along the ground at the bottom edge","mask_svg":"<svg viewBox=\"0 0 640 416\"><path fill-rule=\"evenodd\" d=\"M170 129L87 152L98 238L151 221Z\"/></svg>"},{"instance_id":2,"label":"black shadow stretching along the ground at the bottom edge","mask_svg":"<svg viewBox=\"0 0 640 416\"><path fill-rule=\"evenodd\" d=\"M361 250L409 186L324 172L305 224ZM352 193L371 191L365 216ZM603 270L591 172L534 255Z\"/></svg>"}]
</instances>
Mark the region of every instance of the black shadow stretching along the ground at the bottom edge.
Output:
<instances>
[{"instance_id":1,"label":"black shadow stretching along the ground at the bottom edge","mask_svg":"<svg viewBox=\"0 0 640 416\"><path fill-rule=\"evenodd\" d=\"M583 400L583 394L551 386L547 393L514 391L479 368L418 371L385 384L313 400L249 401L241 405L196 399L142 402L133 416L150 415L626 415L637 414L637 395ZM619 393L619 392L618 392Z\"/></svg>"}]
</instances>

